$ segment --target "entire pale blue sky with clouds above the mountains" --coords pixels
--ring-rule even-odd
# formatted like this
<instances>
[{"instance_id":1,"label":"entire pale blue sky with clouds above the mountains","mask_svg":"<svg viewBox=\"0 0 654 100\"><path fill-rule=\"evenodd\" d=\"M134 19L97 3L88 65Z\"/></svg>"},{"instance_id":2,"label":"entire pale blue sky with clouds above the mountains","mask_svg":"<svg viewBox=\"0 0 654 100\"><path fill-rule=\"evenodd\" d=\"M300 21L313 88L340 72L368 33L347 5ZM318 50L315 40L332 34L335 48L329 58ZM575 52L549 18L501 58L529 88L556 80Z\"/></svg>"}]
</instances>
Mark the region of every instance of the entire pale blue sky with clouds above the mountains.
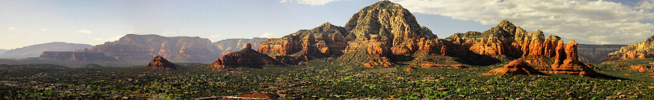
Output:
<instances>
[{"instance_id":1,"label":"entire pale blue sky with clouds above the mountains","mask_svg":"<svg viewBox=\"0 0 654 100\"><path fill-rule=\"evenodd\" d=\"M98 45L125 34L279 38L337 26L379 0L0 0L0 49L49 42ZM654 35L654 0L391 0L439 38L502 19L581 44L634 44Z\"/></svg>"}]
</instances>

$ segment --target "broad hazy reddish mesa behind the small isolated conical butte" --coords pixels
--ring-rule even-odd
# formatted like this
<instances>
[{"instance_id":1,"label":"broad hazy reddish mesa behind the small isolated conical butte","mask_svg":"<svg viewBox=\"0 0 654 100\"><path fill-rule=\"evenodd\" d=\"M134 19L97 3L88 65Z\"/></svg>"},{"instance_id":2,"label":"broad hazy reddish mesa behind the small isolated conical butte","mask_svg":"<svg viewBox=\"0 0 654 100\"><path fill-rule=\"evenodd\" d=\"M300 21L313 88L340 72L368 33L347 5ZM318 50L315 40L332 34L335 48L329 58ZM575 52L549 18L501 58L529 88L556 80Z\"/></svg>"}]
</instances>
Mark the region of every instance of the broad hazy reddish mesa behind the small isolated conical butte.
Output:
<instances>
[{"instance_id":1,"label":"broad hazy reddish mesa behind the small isolated conical butte","mask_svg":"<svg viewBox=\"0 0 654 100\"><path fill-rule=\"evenodd\" d=\"M105 53L119 60L149 60L161 55L179 62L211 62L220 53L206 38L127 34L115 42L95 45L87 52Z\"/></svg>"}]
</instances>

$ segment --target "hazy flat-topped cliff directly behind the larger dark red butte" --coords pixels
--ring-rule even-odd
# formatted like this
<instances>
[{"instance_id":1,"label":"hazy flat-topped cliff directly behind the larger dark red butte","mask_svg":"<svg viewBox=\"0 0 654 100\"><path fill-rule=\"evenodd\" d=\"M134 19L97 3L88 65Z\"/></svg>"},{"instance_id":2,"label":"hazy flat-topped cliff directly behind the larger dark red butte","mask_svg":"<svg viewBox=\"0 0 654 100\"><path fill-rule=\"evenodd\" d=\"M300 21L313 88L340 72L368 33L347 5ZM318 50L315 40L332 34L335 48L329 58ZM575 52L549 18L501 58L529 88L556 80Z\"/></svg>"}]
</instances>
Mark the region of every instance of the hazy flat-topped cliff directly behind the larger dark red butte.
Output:
<instances>
[{"instance_id":1,"label":"hazy flat-topped cliff directly behind the larger dark red butte","mask_svg":"<svg viewBox=\"0 0 654 100\"><path fill-rule=\"evenodd\" d=\"M266 40L268 40L268 38L226 39L226 40L220 40L218 42L213 42L212 44L217 47L215 51L219 53L224 53L223 55L227 55L228 53L243 49L243 47L245 47L246 44L252 44L252 48L257 49L259 48L261 42L265 42Z\"/></svg>"}]
</instances>

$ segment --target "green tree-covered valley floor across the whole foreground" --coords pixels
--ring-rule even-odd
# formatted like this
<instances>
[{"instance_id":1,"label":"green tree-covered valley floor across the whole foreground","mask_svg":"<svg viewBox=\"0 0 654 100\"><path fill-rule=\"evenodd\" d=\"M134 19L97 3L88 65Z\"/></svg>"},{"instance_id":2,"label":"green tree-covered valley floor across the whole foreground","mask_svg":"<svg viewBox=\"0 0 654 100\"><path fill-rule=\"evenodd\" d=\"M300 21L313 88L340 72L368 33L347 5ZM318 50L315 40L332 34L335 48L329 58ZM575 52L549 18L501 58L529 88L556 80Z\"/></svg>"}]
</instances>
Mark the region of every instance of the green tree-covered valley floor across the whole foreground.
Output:
<instances>
[{"instance_id":1,"label":"green tree-covered valley floor across the whole foreground","mask_svg":"<svg viewBox=\"0 0 654 100\"><path fill-rule=\"evenodd\" d=\"M312 60L310 66L263 69L216 70L209 65L183 65L187 66L169 71L148 71L143 66L0 65L0 97L192 99L266 94L274 99L654 99L652 77L628 69L611 69L611 64L597 64L596 71L623 79L485 74L504 64L465 69L412 66L419 70L407 72L404 69L409 66L362 68L335 63L332 58ZM623 73L631 75L616 75Z\"/></svg>"}]
</instances>

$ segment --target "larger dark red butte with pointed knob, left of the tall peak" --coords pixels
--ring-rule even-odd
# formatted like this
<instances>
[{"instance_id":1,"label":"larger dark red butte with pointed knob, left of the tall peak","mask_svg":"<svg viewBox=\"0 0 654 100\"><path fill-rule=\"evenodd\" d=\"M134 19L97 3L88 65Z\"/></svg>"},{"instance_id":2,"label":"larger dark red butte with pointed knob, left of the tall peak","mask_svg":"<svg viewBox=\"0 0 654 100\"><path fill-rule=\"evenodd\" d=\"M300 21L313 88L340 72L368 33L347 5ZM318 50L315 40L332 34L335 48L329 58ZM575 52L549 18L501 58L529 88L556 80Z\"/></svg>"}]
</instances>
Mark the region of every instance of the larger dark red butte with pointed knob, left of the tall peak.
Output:
<instances>
[{"instance_id":1,"label":"larger dark red butte with pointed knob, left of the tall peak","mask_svg":"<svg viewBox=\"0 0 654 100\"><path fill-rule=\"evenodd\" d=\"M243 49L241 49L241 51L217 58L211 67L217 69L230 69L237 67L263 68L263 66L278 66L281 64L281 62L270 56L254 51L252 45L247 44Z\"/></svg>"}]
</instances>

